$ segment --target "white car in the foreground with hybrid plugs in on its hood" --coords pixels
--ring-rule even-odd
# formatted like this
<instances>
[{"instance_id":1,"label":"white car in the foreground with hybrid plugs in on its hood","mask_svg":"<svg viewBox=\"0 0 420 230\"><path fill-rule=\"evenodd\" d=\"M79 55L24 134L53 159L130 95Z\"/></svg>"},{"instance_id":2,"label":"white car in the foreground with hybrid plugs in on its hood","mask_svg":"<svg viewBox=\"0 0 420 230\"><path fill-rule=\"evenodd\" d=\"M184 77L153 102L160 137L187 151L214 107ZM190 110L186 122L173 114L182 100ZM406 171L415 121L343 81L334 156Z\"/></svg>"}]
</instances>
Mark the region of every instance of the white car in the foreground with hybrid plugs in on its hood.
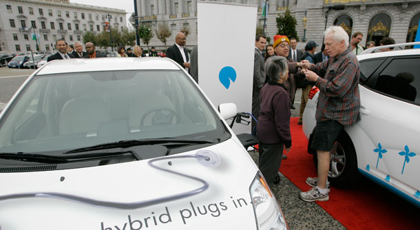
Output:
<instances>
[{"instance_id":1,"label":"white car in the foreground with hybrid plugs in on its hood","mask_svg":"<svg viewBox=\"0 0 420 230\"><path fill-rule=\"evenodd\" d=\"M170 59L43 65L0 114L0 229L288 229L219 109Z\"/></svg>"}]
</instances>

